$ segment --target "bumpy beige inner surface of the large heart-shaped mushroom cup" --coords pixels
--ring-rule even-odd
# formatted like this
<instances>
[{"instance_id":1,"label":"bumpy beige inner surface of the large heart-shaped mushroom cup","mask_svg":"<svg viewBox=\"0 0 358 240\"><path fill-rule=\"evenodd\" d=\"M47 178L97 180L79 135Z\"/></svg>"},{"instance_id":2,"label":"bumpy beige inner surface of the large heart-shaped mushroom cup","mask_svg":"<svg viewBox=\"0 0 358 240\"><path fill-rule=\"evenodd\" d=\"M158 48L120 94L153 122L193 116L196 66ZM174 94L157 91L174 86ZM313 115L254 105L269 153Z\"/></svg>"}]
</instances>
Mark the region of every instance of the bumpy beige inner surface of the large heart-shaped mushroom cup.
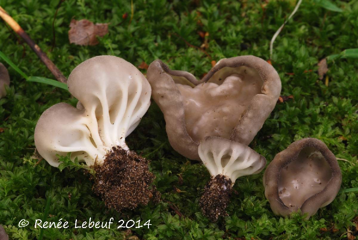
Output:
<instances>
[{"instance_id":1,"label":"bumpy beige inner surface of the large heart-shaped mushroom cup","mask_svg":"<svg viewBox=\"0 0 358 240\"><path fill-rule=\"evenodd\" d=\"M177 83L189 136L197 143L206 136L229 138L262 84L257 71L244 66L225 67L195 87Z\"/></svg>"}]
</instances>

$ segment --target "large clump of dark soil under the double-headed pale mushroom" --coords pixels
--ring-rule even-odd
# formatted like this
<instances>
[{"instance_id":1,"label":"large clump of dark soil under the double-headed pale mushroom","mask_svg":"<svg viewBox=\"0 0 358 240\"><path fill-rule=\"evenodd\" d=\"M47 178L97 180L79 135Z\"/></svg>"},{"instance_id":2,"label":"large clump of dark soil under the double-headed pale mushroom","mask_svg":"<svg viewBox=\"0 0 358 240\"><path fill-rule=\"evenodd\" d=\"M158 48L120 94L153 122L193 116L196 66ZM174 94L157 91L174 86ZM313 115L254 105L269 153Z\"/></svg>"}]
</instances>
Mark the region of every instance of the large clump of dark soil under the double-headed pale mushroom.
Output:
<instances>
[{"instance_id":1,"label":"large clump of dark soil under the double-headed pale mushroom","mask_svg":"<svg viewBox=\"0 0 358 240\"><path fill-rule=\"evenodd\" d=\"M152 184L155 178L149 171L149 161L135 151L113 147L103 164L95 165L93 191L101 196L106 206L133 210L139 204L147 205L149 200L158 203L160 193Z\"/></svg>"}]
</instances>

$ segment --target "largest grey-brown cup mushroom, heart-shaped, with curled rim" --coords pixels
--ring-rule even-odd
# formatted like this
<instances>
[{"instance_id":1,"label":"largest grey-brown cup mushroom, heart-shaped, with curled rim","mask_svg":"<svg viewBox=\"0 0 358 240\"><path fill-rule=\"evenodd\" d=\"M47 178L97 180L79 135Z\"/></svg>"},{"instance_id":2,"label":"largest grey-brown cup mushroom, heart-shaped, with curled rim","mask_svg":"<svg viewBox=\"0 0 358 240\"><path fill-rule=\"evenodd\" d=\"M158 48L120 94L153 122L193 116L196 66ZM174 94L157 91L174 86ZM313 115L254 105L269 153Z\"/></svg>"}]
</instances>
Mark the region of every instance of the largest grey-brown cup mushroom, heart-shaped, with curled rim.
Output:
<instances>
[{"instance_id":1,"label":"largest grey-brown cup mushroom, heart-shaped, with curled rim","mask_svg":"<svg viewBox=\"0 0 358 240\"><path fill-rule=\"evenodd\" d=\"M171 146L195 160L206 136L248 145L281 92L274 67L255 56L222 59L202 80L156 60L148 68L147 79L164 114Z\"/></svg>"}]
</instances>

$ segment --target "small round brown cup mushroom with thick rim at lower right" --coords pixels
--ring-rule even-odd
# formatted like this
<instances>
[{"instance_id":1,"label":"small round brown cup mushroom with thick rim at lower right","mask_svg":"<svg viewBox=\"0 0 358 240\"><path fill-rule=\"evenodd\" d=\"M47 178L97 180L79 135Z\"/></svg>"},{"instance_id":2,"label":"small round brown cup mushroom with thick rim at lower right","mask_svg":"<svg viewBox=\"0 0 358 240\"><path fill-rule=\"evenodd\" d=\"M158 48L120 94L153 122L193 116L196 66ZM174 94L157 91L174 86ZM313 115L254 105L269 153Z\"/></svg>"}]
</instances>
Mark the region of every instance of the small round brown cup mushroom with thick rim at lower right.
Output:
<instances>
[{"instance_id":1,"label":"small round brown cup mushroom with thick rim at lower right","mask_svg":"<svg viewBox=\"0 0 358 240\"><path fill-rule=\"evenodd\" d=\"M265 196L276 215L301 210L307 219L337 196L342 174L334 154L316 138L303 138L278 153L263 175Z\"/></svg>"}]
</instances>

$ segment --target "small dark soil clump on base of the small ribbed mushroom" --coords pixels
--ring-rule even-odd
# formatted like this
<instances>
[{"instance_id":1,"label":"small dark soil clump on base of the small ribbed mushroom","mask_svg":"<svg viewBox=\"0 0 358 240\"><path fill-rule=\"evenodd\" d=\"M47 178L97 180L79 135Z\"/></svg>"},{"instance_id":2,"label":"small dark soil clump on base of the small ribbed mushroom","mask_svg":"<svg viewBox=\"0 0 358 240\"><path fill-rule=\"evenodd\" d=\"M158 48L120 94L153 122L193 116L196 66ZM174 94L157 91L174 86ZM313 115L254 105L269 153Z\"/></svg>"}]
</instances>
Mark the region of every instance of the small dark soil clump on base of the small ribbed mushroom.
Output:
<instances>
[{"instance_id":1,"label":"small dark soil clump on base of the small ribbed mushroom","mask_svg":"<svg viewBox=\"0 0 358 240\"><path fill-rule=\"evenodd\" d=\"M223 175L211 177L205 185L204 193L199 199L200 208L207 218L216 222L220 216L226 215L226 207L231 197L231 179Z\"/></svg>"}]
</instances>

